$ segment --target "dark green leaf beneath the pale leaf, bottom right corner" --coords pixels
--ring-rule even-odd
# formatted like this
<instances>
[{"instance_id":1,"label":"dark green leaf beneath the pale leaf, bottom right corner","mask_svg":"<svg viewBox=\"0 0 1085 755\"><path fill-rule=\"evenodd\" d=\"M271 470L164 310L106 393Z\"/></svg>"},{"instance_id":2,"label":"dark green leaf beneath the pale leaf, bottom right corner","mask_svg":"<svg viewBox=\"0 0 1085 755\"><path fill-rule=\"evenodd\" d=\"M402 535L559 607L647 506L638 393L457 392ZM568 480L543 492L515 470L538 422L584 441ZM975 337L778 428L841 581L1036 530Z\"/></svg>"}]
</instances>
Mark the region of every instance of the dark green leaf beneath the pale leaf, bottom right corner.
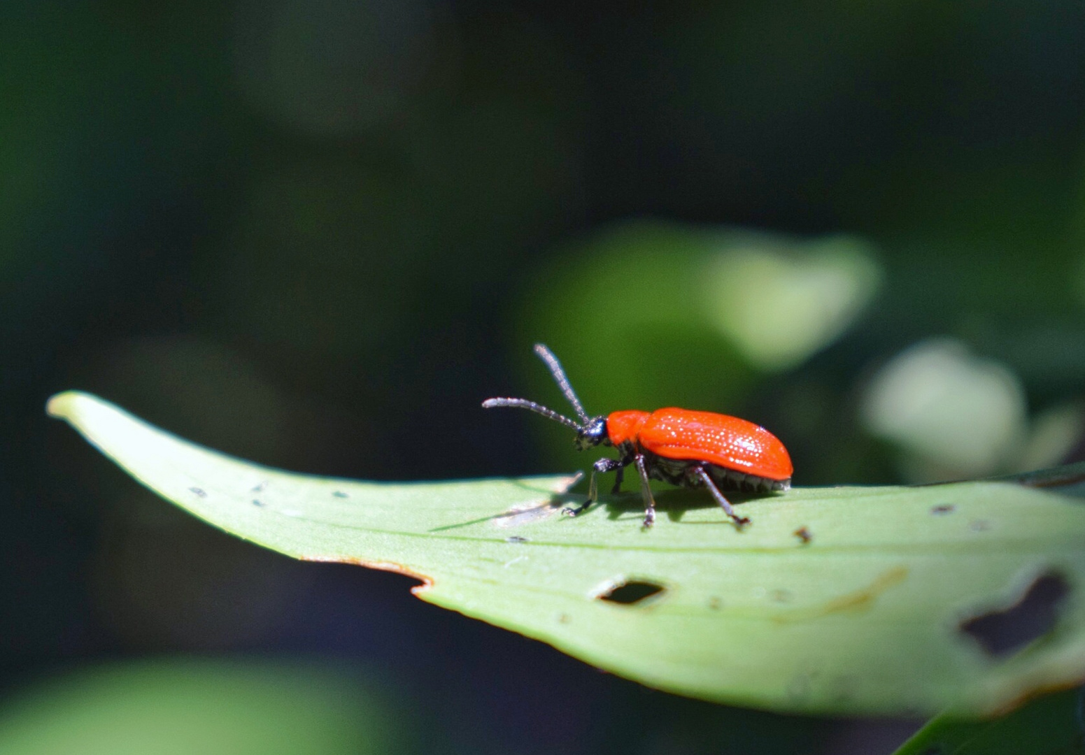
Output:
<instances>
[{"instance_id":1,"label":"dark green leaf beneath the pale leaf, bottom right corner","mask_svg":"<svg viewBox=\"0 0 1085 755\"><path fill-rule=\"evenodd\" d=\"M939 716L894 755L1073 755L1085 753L1082 691L1034 700L992 720Z\"/></svg>"}]
</instances>

